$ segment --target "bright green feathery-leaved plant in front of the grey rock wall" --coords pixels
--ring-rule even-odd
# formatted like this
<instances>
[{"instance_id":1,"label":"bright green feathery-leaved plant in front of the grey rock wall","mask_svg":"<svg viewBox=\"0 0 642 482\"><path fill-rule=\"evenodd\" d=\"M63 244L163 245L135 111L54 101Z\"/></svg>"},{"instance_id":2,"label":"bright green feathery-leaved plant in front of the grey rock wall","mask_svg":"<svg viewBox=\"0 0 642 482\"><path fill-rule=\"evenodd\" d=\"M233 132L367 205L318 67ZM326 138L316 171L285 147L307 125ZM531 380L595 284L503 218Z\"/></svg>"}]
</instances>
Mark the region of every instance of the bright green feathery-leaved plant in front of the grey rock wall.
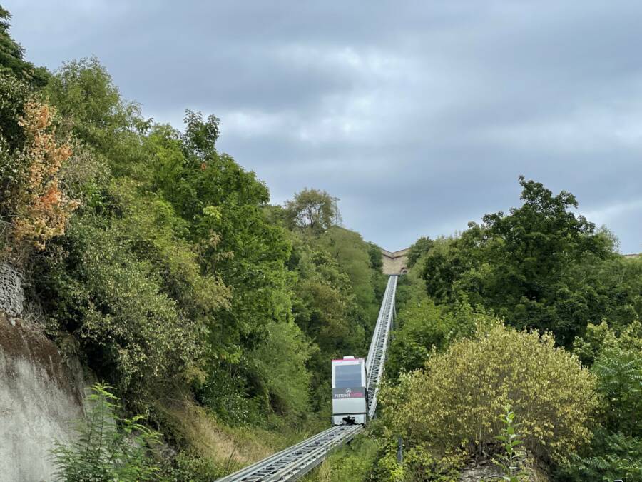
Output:
<instances>
[{"instance_id":1,"label":"bright green feathery-leaved plant in front of the grey rock wall","mask_svg":"<svg viewBox=\"0 0 642 482\"><path fill-rule=\"evenodd\" d=\"M117 402L110 386L95 383L91 387L78 437L68 444L57 443L53 451L56 480L156 480L160 468L150 448L158 443L159 434L138 423L140 416L118 417Z\"/></svg>"}]
</instances>

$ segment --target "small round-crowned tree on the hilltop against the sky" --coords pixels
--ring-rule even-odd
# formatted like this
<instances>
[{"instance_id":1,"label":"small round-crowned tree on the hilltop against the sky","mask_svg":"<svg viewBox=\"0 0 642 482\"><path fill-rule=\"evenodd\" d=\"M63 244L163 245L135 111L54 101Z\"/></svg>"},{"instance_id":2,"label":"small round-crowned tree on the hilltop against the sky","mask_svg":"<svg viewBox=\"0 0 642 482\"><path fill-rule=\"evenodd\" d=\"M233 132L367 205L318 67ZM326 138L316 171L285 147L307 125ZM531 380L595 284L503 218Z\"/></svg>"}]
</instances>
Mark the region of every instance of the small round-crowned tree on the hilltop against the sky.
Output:
<instances>
[{"instance_id":1,"label":"small round-crowned tree on the hilltop against the sky","mask_svg":"<svg viewBox=\"0 0 642 482\"><path fill-rule=\"evenodd\" d=\"M290 229L305 229L320 234L340 222L338 199L318 189L303 189L285 202Z\"/></svg>"}]
</instances>

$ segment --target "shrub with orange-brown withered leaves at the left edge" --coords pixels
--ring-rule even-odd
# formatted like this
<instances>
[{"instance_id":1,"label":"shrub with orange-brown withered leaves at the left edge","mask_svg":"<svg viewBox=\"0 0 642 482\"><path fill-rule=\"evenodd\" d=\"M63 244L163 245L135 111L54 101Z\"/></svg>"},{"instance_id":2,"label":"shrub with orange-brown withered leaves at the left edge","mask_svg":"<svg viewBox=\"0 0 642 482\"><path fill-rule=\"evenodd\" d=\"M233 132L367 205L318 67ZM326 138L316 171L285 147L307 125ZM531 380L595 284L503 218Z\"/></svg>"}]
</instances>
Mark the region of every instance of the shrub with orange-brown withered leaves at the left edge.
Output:
<instances>
[{"instance_id":1,"label":"shrub with orange-brown withered leaves at the left edge","mask_svg":"<svg viewBox=\"0 0 642 482\"><path fill-rule=\"evenodd\" d=\"M11 77L0 76L0 114L0 218L11 224L14 261L21 261L63 234L77 206L59 187L71 147L57 139L55 110Z\"/></svg>"}]
</instances>

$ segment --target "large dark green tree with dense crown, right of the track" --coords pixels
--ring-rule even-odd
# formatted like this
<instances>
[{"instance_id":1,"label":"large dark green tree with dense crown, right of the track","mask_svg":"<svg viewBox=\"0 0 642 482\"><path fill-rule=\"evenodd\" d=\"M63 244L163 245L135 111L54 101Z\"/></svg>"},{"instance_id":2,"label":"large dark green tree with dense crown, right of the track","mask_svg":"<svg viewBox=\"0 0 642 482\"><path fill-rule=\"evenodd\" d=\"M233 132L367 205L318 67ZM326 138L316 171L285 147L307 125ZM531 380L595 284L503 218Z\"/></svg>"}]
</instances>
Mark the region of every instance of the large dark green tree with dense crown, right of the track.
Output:
<instances>
[{"instance_id":1,"label":"large dark green tree with dense crown, right of the track","mask_svg":"<svg viewBox=\"0 0 642 482\"><path fill-rule=\"evenodd\" d=\"M613 236L574 214L572 194L554 196L523 177L520 184L522 206L434 243L422 266L429 296L449 303L464 292L473 306L516 328L550 331L564 346L588 323L616 316L626 325L639 316L639 278L626 268L635 281L623 285L611 274L623 271Z\"/></svg>"}]
</instances>

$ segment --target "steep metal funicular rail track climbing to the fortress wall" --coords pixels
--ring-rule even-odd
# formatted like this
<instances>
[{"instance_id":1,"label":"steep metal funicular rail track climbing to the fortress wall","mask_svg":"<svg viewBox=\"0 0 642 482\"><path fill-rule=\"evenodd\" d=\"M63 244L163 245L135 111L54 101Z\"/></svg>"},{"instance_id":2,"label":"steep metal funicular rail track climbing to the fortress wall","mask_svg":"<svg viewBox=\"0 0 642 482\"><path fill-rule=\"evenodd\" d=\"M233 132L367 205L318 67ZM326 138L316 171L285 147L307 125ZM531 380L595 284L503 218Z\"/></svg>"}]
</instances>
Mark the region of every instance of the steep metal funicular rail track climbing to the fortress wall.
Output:
<instances>
[{"instance_id":1,"label":"steep metal funicular rail track climbing to the fortress wall","mask_svg":"<svg viewBox=\"0 0 642 482\"><path fill-rule=\"evenodd\" d=\"M368 415L374 416L377 408L379 381L383 375L386 348L394 317L394 295L397 291L398 276L390 276L379 309L377 324L372 333L372 342L366 359L368 373L368 398L370 408ZM336 446L342 445L363 430L360 425L338 425L286 448L273 456L243 470L220 478L218 482L274 482L290 481L304 476L319 465L328 453Z\"/></svg>"}]
</instances>

